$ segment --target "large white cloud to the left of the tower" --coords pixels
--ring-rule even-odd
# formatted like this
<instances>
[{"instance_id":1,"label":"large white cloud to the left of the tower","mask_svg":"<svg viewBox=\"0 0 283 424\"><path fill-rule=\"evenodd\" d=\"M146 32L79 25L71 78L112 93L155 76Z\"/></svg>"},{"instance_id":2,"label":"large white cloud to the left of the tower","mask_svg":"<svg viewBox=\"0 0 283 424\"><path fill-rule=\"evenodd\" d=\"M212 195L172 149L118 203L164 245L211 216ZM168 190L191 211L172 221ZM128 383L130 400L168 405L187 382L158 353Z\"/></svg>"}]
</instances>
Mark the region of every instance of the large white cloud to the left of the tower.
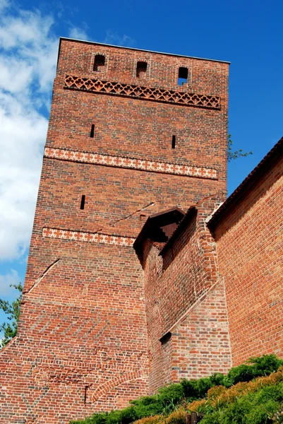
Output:
<instances>
[{"instance_id":1,"label":"large white cloud to the left of the tower","mask_svg":"<svg viewBox=\"0 0 283 424\"><path fill-rule=\"evenodd\" d=\"M32 229L58 39L53 19L0 0L0 259L25 254ZM42 110L45 108L45 116ZM1 282L1 279L0 279Z\"/></svg>"}]
</instances>

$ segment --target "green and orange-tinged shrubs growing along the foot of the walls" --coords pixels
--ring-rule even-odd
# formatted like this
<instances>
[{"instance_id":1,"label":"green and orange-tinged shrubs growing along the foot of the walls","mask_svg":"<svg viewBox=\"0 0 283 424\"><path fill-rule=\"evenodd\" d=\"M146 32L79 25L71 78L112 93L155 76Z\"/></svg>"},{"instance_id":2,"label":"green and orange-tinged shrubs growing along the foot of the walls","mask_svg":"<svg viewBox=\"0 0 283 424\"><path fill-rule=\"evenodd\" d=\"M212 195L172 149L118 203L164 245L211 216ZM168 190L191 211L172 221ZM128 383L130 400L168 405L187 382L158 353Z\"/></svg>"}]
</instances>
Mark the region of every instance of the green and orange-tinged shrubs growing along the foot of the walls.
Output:
<instances>
[{"instance_id":1,"label":"green and orange-tinged shrubs growing along the foot of the walls","mask_svg":"<svg viewBox=\"0 0 283 424\"><path fill-rule=\"evenodd\" d=\"M179 384L169 384L167 387L162 387L155 396L143 396L140 399L131 401L130 406L121 411L95 413L90 418L71 421L71 423L130 424L138 420L139 424L169 424L168 420L170 419L170 424L177 424L179 419L183 420L183 412L177 413L174 410L183 404L184 399L190 403L191 411L205 411L210 413L210 418L214 416L215 422L213 424L224 423L221 410L215 411L215 408L224 408L225 404L232 403L234 403L234 408L236 408L238 407L236 406L237 397L258 391L263 386L277 384L282 380L283 366L281 371L276 372L280 365L283 365L283 360L279 360L275 355L251 358L246 361L246 364L231 368L228 375L216 373L210 377L200 379L183 379ZM266 377L268 375L270 377ZM251 381L255 377L260 378L257 378L256 381ZM230 387L231 389L229 389ZM200 400L206 396L208 399ZM195 402L192 404L192 401ZM272 399L269 401L272 401ZM270 408L273 411L274 408L272 406ZM258 410L258 415L254 419L259 419L256 417L260 416L262 409ZM178 411L183 410L179 408ZM172 416L171 413L173 413ZM165 416L167 417L166 420L164 419ZM208 420L210 418L205 419ZM236 421L231 421L231 423L233 422L236 423Z\"/></svg>"}]
</instances>

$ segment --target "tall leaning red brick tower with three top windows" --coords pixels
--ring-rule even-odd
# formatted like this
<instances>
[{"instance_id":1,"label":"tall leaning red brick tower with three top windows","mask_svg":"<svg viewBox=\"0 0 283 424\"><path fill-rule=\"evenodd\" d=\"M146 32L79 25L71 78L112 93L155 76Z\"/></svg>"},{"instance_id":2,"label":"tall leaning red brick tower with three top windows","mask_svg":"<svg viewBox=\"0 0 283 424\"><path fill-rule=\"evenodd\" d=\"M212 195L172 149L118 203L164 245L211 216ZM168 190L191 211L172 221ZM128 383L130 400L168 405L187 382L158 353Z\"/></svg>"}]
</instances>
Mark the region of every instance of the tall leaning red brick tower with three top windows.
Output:
<instances>
[{"instance_id":1,"label":"tall leaning red brick tower with three top windows","mask_svg":"<svg viewBox=\"0 0 283 424\"><path fill-rule=\"evenodd\" d=\"M149 394L152 214L225 196L228 64L62 38L0 423L68 423Z\"/></svg>"}]
</instances>

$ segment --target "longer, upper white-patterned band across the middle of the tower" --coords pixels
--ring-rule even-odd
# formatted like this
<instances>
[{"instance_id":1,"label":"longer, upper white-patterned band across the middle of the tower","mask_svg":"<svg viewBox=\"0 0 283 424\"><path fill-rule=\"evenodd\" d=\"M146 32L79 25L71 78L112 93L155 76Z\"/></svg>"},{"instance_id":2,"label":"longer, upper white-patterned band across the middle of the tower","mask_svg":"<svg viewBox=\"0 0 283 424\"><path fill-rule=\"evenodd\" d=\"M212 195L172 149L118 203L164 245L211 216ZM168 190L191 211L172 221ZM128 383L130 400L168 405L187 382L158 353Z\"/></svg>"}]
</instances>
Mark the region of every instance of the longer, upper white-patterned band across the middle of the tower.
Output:
<instances>
[{"instance_id":1,"label":"longer, upper white-patterned band across the middle of the tower","mask_svg":"<svg viewBox=\"0 0 283 424\"><path fill-rule=\"evenodd\" d=\"M96 165L123 167L134 170L162 172L164 174L217 179L217 171L205 167L174 165L173 163L161 163L152 162L150 160L121 158L119 156L99 155L97 153L67 151L61 148L50 147L46 147L44 149L44 156L46 158L69 160L71 162L93 163Z\"/></svg>"}]
</instances>

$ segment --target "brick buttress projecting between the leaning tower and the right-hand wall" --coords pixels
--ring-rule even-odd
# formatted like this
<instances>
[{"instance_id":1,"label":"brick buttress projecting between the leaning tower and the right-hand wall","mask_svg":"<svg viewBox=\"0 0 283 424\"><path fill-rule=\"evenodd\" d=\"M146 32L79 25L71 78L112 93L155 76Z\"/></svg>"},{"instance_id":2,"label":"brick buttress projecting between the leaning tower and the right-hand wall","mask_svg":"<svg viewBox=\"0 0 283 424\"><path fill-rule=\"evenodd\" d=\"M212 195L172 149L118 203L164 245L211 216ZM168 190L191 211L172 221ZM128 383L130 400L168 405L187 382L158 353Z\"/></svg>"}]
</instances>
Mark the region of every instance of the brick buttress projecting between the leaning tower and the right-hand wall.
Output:
<instances>
[{"instance_id":1,"label":"brick buttress projecting between the leaning tower and the right-hand wall","mask_svg":"<svg viewBox=\"0 0 283 424\"><path fill-rule=\"evenodd\" d=\"M163 260L158 245L145 244L152 391L181 378L227 372L231 366L224 286L205 224L215 201L207 199L188 215L186 228L162 253Z\"/></svg>"}]
</instances>

